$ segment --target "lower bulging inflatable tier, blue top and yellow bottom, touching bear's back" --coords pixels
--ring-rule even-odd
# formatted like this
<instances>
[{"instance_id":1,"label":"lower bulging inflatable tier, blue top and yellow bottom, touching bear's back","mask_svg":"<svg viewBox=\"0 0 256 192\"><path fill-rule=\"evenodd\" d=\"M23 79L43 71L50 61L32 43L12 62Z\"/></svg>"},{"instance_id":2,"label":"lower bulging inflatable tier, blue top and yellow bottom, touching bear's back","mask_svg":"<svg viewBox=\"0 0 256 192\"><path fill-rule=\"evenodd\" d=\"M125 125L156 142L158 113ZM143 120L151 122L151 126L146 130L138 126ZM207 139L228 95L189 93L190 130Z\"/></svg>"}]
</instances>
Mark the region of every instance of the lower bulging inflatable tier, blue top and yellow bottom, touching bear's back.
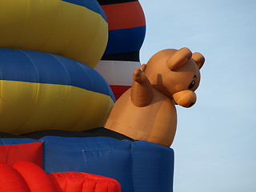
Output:
<instances>
[{"instance_id":1,"label":"lower bulging inflatable tier, blue top and yellow bottom, touching bear's back","mask_svg":"<svg viewBox=\"0 0 256 192\"><path fill-rule=\"evenodd\" d=\"M2 131L91 129L102 126L113 105L105 79L70 58L0 48L0 62Z\"/></svg>"}]
</instances>

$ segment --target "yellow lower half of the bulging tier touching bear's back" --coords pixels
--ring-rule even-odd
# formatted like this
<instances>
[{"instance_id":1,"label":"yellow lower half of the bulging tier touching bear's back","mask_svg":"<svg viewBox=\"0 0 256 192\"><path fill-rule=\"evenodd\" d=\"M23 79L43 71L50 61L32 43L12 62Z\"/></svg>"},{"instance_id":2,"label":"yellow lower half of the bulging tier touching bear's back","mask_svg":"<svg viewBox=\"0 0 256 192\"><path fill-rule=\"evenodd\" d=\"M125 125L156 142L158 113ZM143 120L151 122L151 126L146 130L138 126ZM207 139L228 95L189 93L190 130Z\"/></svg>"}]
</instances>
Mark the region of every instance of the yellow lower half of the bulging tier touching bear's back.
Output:
<instances>
[{"instance_id":1,"label":"yellow lower half of the bulging tier touching bear's back","mask_svg":"<svg viewBox=\"0 0 256 192\"><path fill-rule=\"evenodd\" d=\"M89 130L102 126L114 102L75 86L1 80L0 131Z\"/></svg>"}]
</instances>

